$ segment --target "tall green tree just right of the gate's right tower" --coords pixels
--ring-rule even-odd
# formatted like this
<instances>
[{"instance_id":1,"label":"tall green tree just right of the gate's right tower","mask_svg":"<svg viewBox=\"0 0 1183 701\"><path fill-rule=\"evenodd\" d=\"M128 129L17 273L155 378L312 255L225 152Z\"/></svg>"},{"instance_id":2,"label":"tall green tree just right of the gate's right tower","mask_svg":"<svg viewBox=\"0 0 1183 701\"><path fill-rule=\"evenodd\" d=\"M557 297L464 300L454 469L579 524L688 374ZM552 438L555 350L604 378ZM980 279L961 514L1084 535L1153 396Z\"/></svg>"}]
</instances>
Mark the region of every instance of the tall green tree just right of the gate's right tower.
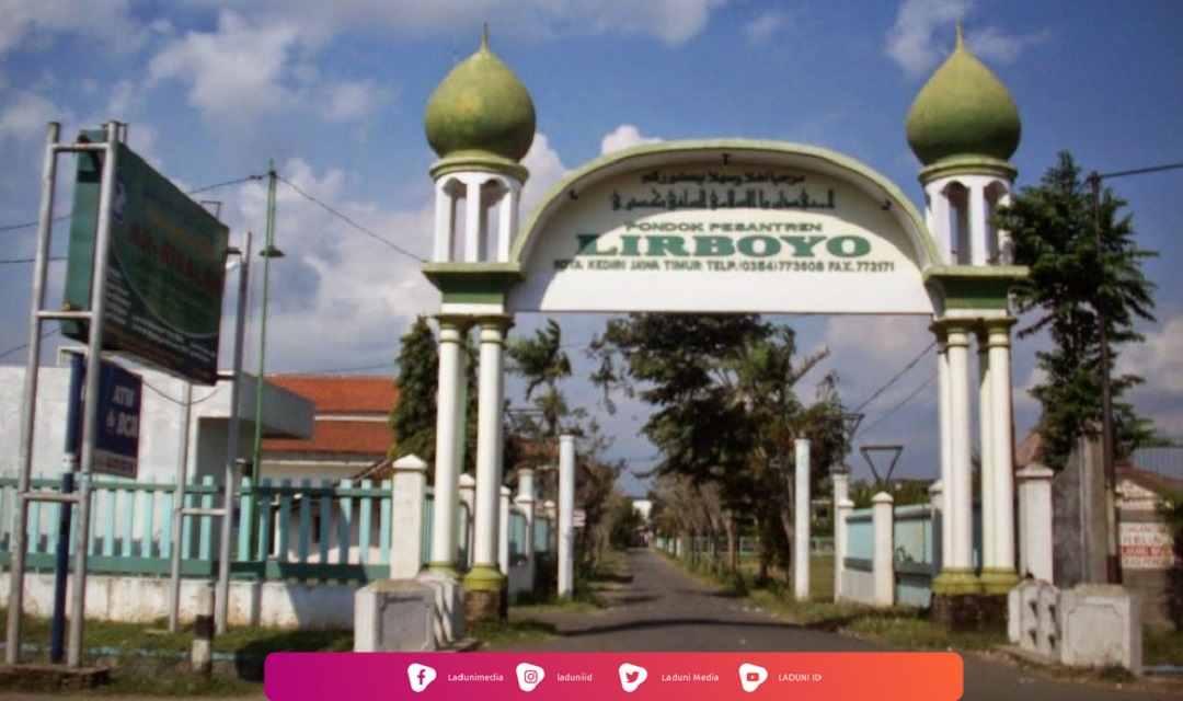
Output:
<instances>
[{"instance_id":1,"label":"tall green tree just right of the gate's right tower","mask_svg":"<svg viewBox=\"0 0 1183 701\"><path fill-rule=\"evenodd\" d=\"M1061 152L1039 186L1023 188L994 219L1010 232L1015 264L1030 268L1014 291L1019 312L1034 314L1019 337L1047 332L1053 344L1036 353L1046 379L1032 390L1042 408L1037 430L1053 469L1065 466L1079 437L1100 426L1098 312L1105 318L1111 371L1123 345L1143 340L1134 323L1153 320L1155 286L1142 273L1142 262L1156 254L1138 248L1132 216L1123 214L1123 207L1125 201L1106 188L1094 208L1080 167ZM1137 375L1112 377L1119 456L1151 435L1149 422L1120 401L1142 381Z\"/></svg>"}]
</instances>

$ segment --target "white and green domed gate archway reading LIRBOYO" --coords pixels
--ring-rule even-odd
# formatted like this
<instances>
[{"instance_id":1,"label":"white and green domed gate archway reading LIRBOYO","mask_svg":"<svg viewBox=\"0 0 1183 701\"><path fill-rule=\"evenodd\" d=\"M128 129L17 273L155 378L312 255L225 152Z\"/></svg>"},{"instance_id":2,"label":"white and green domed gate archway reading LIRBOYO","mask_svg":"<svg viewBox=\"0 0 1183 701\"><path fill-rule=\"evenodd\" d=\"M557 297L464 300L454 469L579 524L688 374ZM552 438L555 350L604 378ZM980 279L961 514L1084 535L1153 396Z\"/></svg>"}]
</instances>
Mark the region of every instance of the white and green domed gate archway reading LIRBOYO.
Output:
<instances>
[{"instance_id":1,"label":"white and green domed gate archway reading LIRBOYO","mask_svg":"<svg viewBox=\"0 0 1183 701\"><path fill-rule=\"evenodd\" d=\"M981 99L968 99L969 93ZM948 93L948 95L946 95ZM534 104L489 50L433 95L427 135L437 219L424 273L442 294L429 569L455 577L464 338L479 329L474 566L478 606L499 606L504 343L517 312L924 314L937 338L944 482L938 605L976 605L1017 582L1014 552L1009 265L991 208L1007 201L1017 111L958 40L909 116L924 168L922 215L867 165L786 142L661 142L568 175L518 227L519 161ZM978 346L978 377L969 357ZM972 563L971 408L978 390L983 553ZM484 602L484 603L483 603Z\"/></svg>"}]
</instances>

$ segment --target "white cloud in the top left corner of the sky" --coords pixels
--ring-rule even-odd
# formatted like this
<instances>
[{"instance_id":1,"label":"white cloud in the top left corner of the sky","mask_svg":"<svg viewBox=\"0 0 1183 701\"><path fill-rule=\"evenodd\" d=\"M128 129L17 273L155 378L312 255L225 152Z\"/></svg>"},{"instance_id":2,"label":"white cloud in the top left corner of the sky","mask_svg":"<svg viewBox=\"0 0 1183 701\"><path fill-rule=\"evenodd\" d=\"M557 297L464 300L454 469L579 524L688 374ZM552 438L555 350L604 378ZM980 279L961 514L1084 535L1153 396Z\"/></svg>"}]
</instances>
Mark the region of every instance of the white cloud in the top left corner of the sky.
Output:
<instances>
[{"instance_id":1,"label":"white cloud in the top left corner of the sky","mask_svg":"<svg viewBox=\"0 0 1183 701\"><path fill-rule=\"evenodd\" d=\"M131 51L144 33L131 18L130 0L77 2L0 0L0 56L18 47L49 48L58 34L77 33L103 43L104 50Z\"/></svg>"}]
</instances>

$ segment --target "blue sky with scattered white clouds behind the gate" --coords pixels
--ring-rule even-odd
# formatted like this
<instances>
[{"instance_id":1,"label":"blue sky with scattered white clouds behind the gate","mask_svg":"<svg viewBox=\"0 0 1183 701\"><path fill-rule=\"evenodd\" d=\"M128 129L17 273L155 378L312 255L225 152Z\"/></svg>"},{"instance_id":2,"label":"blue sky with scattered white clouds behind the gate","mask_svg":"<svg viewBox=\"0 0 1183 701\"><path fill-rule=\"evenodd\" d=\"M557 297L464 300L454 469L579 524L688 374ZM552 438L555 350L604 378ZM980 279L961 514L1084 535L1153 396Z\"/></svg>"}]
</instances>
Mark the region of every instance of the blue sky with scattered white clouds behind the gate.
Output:
<instances>
[{"instance_id":1,"label":"blue sky with scattered white clouds behind the gate","mask_svg":"<svg viewBox=\"0 0 1183 701\"><path fill-rule=\"evenodd\" d=\"M528 203L565 171L642 139L750 137L843 152L919 207L904 122L952 48L957 19L1022 115L1017 187L1036 183L1062 149L1101 173L1183 161L1183 4L1174 0L0 0L0 260L32 257L34 228L18 225L37 218L50 121L63 123L65 138L106 119L130 123L131 147L183 189L261 175L274 160L286 181L277 241L287 257L271 268L269 371L393 374L396 339L438 305L418 261L396 249L429 253L435 156L424 109L477 48L481 22L538 113ZM1158 322L1145 325L1148 343L1127 350L1121 368L1148 377L1137 407L1164 433L1183 435L1183 355L1174 352L1183 344L1183 283L1171 274L1183 252L1183 170L1108 184L1129 201L1139 242L1161 253L1146 266ZM65 214L69 186L60 192L57 213ZM221 201L232 232L261 235L264 183L201 196ZM60 232L54 254L64 251ZM31 265L0 264L0 353L26 340L31 280ZM248 368L259 298L254 285ZM560 320L580 361L605 319ZM787 320L802 350L832 350L827 369L838 370L849 404L931 339L924 319ZM518 331L539 322L522 317ZM1020 437L1036 418L1024 388L1037 343L1015 345ZM0 362L21 363L24 353ZM865 409L856 444L903 443L897 474L938 472L933 374L930 353ZM565 389L594 411L584 377ZM801 388L806 396L814 379ZM616 435L609 455L638 469L653 455L635 436L642 415L626 405L606 420ZM852 460L856 475L868 474Z\"/></svg>"}]
</instances>

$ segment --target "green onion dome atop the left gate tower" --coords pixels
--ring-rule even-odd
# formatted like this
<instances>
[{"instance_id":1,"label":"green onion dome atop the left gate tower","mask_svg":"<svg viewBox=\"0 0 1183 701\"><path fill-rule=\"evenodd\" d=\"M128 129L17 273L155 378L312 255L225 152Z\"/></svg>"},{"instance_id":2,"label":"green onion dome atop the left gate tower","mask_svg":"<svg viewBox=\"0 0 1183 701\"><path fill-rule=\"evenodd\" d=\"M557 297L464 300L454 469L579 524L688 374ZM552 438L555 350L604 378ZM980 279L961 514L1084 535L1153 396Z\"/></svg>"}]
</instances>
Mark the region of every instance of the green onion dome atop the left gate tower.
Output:
<instances>
[{"instance_id":1,"label":"green onion dome atop the left gate tower","mask_svg":"<svg viewBox=\"0 0 1183 701\"><path fill-rule=\"evenodd\" d=\"M534 143L534 99L513 71L489 48L489 25L480 48L457 65L427 102L427 143L440 158L521 161Z\"/></svg>"}]
</instances>

